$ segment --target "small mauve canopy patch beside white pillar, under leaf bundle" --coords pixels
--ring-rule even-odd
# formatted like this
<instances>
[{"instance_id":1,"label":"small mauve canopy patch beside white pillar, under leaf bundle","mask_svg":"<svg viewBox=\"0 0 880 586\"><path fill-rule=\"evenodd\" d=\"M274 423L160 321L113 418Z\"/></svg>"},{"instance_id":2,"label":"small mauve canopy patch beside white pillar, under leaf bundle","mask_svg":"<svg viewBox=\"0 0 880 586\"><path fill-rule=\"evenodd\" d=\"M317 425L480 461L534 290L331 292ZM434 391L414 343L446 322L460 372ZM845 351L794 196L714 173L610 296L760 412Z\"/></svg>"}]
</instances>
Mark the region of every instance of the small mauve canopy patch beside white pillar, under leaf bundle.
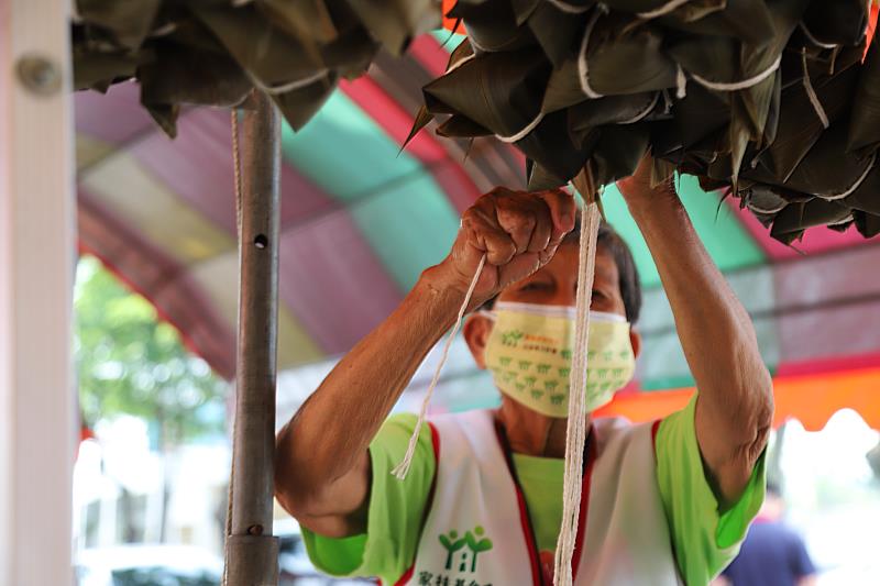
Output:
<instances>
[{"instance_id":1,"label":"small mauve canopy patch beside white pillar, under leaf bundle","mask_svg":"<svg viewBox=\"0 0 880 586\"><path fill-rule=\"evenodd\" d=\"M122 144L156 123L141 106L140 86L133 81L112 86L106 95L77 91L74 95L76 130L111 144Z\"/></svg>"}]
</instances>

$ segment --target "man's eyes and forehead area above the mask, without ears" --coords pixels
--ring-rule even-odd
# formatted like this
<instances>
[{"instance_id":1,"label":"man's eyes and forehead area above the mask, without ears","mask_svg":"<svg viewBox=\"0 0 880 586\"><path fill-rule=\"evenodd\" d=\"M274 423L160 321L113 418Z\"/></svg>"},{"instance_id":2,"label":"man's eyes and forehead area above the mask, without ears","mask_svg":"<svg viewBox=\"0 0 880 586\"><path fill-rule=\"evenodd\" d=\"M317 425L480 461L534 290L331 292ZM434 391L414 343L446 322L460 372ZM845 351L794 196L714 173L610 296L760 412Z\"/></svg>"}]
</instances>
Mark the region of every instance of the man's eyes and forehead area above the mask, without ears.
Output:
<instances>
[{"instance_id":1,"label":"man's eyes and forehead area above the mask, without ears","mask_svg":"<svg viewBox=\"0 0 880 586\"><path fill-rule=\"evenodd\" d=\"M508 286L498 295L498 300L573 307L576 292L578 246L563 244L552 261L530 277ZM604 246L596 248L596 274L590 309L626 317L624 297L620 295L620 274L614 257Z\"/></svg>"}]
</instances>

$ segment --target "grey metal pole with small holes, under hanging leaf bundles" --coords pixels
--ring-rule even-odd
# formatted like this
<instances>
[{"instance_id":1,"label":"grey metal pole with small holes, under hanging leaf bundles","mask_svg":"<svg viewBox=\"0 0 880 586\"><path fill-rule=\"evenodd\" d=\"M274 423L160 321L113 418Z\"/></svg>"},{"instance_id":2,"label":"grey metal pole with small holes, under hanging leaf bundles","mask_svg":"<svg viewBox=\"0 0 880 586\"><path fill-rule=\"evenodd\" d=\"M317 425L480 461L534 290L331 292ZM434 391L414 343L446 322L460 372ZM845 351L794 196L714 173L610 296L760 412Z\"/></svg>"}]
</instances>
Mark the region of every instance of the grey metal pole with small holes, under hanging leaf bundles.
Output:
<instances>
[{"instance_id":1,"label":"grey metal pole with small holes, under hanging leaf bundles","mask_svg":"<svg viewBox=\"0 0 880 586\"><path fill-rule=\"evenodd\" d=\"M272 537L275 371L278 308L280 121L255 95L244 113L239 218L239 345L232 447L229 586L276 586L278 542Z\"/></svg>"}]
</instances>

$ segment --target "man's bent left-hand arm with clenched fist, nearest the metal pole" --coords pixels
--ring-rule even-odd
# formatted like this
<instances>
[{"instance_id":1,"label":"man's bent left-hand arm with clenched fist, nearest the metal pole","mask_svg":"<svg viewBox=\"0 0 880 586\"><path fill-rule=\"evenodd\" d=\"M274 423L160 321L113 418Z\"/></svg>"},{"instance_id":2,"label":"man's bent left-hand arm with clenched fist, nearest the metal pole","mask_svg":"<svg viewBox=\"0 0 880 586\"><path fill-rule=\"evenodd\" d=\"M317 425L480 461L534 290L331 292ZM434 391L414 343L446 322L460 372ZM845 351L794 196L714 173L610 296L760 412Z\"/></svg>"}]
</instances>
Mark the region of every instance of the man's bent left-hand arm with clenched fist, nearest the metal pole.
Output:
<instances>
[{"instance_id":1,"label":"man's bent left-hand arm with clenched fist, nearest the metal pole","mask_svg":"<svg viewBox=\"0 0 880 586\"><path fill-rule=\"evenodd\" d=\"M552 258L574 226L562 191L497 188L462 218L449 256L426 270L400 306L359 342L278 433L275 495L316 533L363 532L370 496L367 447L437 341L452 325L483 254L477 307Z\"/></svg>"}]
</instances>

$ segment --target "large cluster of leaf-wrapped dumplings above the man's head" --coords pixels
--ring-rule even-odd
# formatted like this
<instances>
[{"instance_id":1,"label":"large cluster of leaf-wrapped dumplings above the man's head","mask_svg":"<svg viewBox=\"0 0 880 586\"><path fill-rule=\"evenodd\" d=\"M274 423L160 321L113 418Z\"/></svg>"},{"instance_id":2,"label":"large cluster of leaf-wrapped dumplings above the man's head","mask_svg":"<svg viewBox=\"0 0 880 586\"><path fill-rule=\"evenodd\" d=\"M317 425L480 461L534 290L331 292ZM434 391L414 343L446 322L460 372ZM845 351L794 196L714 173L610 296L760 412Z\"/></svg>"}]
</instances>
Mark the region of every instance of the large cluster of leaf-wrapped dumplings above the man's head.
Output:
<instances>
[{"instance_id":1,"label":"large cluster of leaf-wrapped dumplings above the man's head","mask_svg":"<svg viewBox=\"0 0 880 586\"><path fill-rule=\"evenodd\" d=\"M448 16L468 38L414 131L441 114L443 135L515 143L535 189L586 165L607 184L650 147L656 180L730 186L782 242L880 233L869 0L458 0Z\"/></svg>"}]
</instances>

